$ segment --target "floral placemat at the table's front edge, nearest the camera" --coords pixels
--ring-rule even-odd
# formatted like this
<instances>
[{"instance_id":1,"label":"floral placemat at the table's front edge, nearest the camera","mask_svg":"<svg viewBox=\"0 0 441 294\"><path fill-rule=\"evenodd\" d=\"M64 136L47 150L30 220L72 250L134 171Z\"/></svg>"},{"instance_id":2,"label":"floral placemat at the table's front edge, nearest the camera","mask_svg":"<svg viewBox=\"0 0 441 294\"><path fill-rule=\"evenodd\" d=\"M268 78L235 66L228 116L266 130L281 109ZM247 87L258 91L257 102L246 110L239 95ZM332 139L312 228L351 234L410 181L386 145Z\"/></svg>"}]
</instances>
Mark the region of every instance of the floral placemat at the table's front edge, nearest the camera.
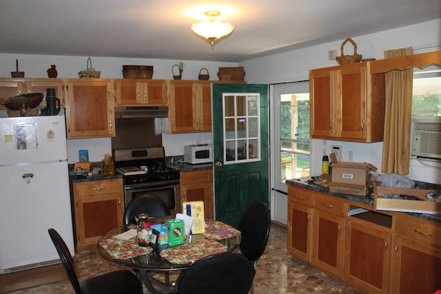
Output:
<instances>
[{"instance_id":1,"label":"floral placemat at the table's front edge, nearest the camera","mask_svg":"<svg viewBox=\"0 0 441 294\"><path fill-rule=\"evenodd\" d=\"M205 258L208 255L223 253L227 246L214 240L201 240L189 244L182 244L159 253L163 258L172 264L187 264Z\"/></svg>"}]
</instances>

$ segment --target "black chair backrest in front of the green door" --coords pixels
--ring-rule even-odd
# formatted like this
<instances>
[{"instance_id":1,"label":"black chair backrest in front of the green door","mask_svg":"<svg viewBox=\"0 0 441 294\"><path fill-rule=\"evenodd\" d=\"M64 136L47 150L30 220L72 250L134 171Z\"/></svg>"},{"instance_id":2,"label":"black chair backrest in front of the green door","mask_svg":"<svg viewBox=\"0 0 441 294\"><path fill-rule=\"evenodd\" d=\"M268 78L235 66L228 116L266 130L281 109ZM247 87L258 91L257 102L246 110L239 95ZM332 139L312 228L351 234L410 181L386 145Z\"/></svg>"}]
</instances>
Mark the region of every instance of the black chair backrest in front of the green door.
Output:
<instances>
[{"instance_id":1,"label":"black chair backrest in front of the green door","mask_svg":"<svg viewBox=\"0 0 441 294\"><path fill-rule=\"evenodd\" d=\"M256 262L265 251L270 226L269 209L263 202L252 204L240 217L238 230L242 240L239 247L248 260Z\"/></svg>"}]
</instances>

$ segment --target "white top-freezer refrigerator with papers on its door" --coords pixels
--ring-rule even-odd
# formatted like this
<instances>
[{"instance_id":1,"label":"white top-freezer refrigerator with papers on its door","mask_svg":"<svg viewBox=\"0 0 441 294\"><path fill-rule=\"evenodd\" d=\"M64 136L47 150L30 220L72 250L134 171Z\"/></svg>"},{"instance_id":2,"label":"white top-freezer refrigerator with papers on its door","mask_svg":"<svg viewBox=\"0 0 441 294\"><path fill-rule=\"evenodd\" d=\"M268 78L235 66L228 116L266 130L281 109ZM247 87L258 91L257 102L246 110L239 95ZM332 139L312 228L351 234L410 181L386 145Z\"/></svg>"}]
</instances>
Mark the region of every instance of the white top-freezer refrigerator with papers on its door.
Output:
<instances>
[{"instance_id":1,"label":"white top-freezer refrigerator with papers on its door","mask_svg":"<svg viewBox=\"0 0 441 294\"><path fill-rule=\"evenodd\" d=\"M0 274L59 262L48 229L72 255L65 116L0 118Z\"/></svg>"}]
</instances>

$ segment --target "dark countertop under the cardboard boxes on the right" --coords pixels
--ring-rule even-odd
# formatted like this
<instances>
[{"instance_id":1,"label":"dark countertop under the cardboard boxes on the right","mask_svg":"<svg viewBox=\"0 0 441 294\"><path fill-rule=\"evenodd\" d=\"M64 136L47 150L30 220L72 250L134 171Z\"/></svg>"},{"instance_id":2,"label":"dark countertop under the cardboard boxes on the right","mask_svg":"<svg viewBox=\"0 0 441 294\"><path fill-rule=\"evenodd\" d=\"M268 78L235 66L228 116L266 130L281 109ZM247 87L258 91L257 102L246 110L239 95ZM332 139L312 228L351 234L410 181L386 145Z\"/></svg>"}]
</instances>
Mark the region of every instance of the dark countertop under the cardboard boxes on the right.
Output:
<instances>
[{"instance_id":1,"label":"dark countertop under the cardboard boxes on the right","mask_svg":"<svg viewBox=\"0 0 441 294\"><path fill-rule=\"evenodd\" d=\"M300 187L300 188L309 189L312 191L318 191L320 193L325 193L325 194L336 196L339 198L352 200L354 202L368 204L368 205L371 205L372 209L373 209L373 198L370 196L364 197L364 196L356 196L356 195L350 195L350 194L344 194L344 193L331 193L331 192L329 192L328 187L322 187L319 185L310 184L309 182L307 182L307 180L309 180L309 179L310 178L308 177L308 178L298 178L298 179L286 180L286 184L287 185L294 185L294 186ZM384 212L387 212L387 211L384 211ZM413 213L413 212L398 212L398 213L405 213L408 216L415 216L416 218L422 218L424 220L430 220L432 222L438 222L439 224L441 224L441 213L436 213L436 214Z\"/></svg>"}]
</instances>

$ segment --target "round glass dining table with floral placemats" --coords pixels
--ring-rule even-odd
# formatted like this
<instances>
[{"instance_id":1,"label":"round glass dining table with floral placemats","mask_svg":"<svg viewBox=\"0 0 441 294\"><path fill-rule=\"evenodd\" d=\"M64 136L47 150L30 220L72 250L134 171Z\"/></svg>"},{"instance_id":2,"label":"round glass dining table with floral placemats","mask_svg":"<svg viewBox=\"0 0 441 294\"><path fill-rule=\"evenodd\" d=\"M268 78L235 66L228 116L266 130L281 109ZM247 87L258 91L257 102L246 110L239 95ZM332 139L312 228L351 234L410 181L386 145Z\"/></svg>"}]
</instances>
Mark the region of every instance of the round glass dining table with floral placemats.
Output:
<instances>
[{"instance_id":1,"label":"round glass dining table with floral placemats","mask_svg":"<svg viewBox=\"0 0 441 294\"><path fill-rule=\"evenodd\" d=\"M167 218L150 219L152 224L167 224ZM174 293L175 282L170 282L171 271L183 271L196 260L238 248L240 231L217 220L205 219L205 232L189 234L184 244L170 246L139 246L136 239L136 224L126 224L103 235L96 249L103 258L138 270L149 293ZM158 280L154 273L163 272L165 281Z\"/></svg>"}]
</instances>

